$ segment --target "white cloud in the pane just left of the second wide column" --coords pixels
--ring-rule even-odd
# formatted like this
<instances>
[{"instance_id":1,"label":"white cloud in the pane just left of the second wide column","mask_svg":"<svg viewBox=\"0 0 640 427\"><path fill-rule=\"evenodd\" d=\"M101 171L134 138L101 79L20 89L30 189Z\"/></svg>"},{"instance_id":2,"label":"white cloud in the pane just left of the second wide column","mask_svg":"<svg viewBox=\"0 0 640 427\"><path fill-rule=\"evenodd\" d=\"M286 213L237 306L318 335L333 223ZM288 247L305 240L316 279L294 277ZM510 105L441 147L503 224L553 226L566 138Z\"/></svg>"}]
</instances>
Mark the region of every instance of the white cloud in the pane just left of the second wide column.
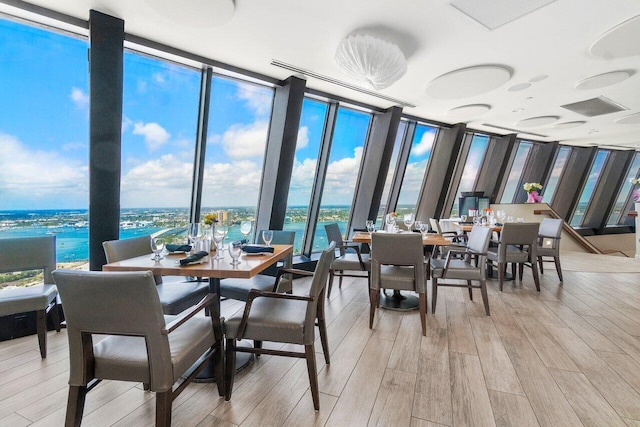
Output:
<instances>
[{"instance_id":1,"label":"white cloud in the pane just left of the second wide column","mask_svg":"<svg viewBox=\"0 0 640 427\"><path fill-rule=\"evenodd\" d=\"M249 125L231 125L222 135L222 147L233 159L264 157L269 123L257 121ZM217 138L214 136L212 141Z\"/></svg>"}]
</instances>

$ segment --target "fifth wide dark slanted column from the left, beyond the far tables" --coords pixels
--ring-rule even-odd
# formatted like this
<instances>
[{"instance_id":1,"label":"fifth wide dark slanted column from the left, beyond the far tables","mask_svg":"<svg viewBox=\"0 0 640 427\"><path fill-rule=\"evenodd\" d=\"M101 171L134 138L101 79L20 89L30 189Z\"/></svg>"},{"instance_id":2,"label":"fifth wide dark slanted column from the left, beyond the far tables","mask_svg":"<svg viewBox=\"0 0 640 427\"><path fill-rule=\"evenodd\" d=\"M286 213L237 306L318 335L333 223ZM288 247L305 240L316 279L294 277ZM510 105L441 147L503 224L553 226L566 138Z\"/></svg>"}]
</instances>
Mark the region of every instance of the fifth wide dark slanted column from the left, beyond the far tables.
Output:
<instances>
[{"instance_id":1,"label":"fifth wide dark slanted column from the left, beyond the far tables","mask_svg":"<svg viewBox=\"0 0 640 427\"><path fill-rule=\"evenodd\" d=\"M516 135L509 134L494 137L489 140L484 162L480 167L476 189L484 191L492 203L500 202L504 189L507 169L513 158L516 144Z\"/></svg>"}]
</instances>

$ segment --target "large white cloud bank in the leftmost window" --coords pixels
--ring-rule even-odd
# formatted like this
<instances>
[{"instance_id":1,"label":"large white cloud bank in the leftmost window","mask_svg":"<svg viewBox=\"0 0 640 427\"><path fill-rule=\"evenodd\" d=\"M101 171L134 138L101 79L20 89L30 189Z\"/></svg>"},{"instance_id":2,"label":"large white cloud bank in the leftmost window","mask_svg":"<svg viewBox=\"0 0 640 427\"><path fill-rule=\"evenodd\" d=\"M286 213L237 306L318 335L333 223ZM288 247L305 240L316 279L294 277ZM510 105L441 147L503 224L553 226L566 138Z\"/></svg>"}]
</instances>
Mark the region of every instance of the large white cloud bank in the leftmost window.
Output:
<instances>
[{"instance_id":1,"label":"large white cloud bank in the leftmost window","mask_svg":"<svg viewBox=\"0 0 640 427\"><path fill-rule=\"evenodd\" d=\"M86 206L86 163L55 151L32 150L5 134L0 134L0 146L0 200L5 208Z\"/></svg>"}]
</instances>

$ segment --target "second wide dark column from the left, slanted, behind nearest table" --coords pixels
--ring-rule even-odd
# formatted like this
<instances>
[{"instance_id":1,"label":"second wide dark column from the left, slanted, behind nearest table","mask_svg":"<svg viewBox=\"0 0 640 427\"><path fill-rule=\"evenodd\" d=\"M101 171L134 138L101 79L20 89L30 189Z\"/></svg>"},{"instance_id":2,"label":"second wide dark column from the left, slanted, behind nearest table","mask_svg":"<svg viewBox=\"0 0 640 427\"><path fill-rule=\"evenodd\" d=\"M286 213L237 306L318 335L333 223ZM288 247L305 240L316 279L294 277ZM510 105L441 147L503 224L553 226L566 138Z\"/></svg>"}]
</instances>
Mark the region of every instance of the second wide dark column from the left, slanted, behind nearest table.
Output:
<instances>
[{"instance_id":1,"label":"second wide dark column from the left, slanted, behind nearest table","mask_svg":"<svg viewBox=\"0 0 640 427\"><path fill-rule=\"evenodd\" d=\"M262 171L256 230L282 230L306 82L289 77L276 89Z\"/></svg>"}]
</instances>

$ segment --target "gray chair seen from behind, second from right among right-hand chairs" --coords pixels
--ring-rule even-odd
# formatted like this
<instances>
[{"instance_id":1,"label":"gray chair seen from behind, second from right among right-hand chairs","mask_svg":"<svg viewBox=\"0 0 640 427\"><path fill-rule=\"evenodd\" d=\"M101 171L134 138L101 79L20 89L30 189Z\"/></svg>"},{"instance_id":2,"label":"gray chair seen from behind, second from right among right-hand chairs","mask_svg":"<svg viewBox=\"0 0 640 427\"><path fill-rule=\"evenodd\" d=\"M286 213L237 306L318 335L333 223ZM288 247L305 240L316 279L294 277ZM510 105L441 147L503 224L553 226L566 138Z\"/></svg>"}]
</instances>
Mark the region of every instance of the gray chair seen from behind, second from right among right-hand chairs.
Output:
<instances>
[{"instance_id":1,"label":"gray chair seen from behind, second from right among right-hand chairs","mask_svg":"<svg viewBox=\"0 0 640 427\"><path fill-rule=\"evenodd\" d=\"M489 248L487 251L487 261L497 264L501 291L504 283L504 273L508 263L520 264L520 280L522 280L522 267L525 265L531 267L536 289L538 291L540 290L537 263L539 227L540 224L537 222L506 223L502 226L498 247Z\"/></svg>"}]
</instances>

